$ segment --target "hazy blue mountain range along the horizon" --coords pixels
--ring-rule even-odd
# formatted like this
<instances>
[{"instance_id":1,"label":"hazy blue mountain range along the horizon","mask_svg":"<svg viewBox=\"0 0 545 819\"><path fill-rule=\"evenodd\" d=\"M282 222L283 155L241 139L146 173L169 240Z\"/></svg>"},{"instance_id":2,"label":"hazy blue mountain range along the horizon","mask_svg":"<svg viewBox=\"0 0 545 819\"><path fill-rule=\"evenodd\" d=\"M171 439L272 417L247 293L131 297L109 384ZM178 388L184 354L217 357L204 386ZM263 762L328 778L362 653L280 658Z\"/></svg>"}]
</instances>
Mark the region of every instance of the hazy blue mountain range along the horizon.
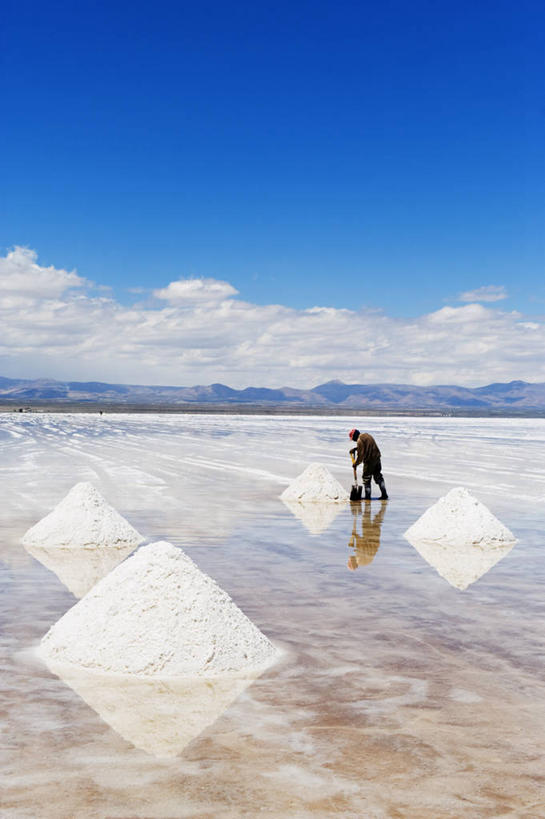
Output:
<instances>
[{"instance_id":1,"label":"hazy blue mountain range along the horizon","mask_svg":"<svg viewBox=\"0 0 545 819\"><path fill-rule=\"evenodd\" d=\"M328 381L311 390L290 387L247 387L235 390L225 384L194 387L106 384L101 381L54 381L0 377L3 404L106 403L122 406L253 405L301 409L365 410L516 410L545 411L545 384L511 381L486 387L407 384L344 384Z\"/></svg>"}]
</instances>

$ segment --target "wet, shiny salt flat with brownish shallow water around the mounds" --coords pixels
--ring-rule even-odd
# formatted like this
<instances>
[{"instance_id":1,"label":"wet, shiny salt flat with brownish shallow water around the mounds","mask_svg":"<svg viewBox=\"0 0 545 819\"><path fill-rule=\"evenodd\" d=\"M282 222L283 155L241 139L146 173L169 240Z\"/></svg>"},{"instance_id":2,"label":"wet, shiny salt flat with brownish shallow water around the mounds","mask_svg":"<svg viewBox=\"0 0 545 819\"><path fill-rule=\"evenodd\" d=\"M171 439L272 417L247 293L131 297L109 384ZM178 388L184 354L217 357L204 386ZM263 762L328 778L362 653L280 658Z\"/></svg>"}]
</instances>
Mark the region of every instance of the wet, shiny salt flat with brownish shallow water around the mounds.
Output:
<instances>
[{"instance_id":1,"label":"wet, shiny salt flat with brownish shallow water around the mounds","mask_svg":"<svg viewBox=\"0 0 545 819\"><path fill-rule=\"evenodd\" d=\"M545 814L545 424L366 419L392 496L382 523L366 535L346 507L311 535L277 496L311 460L350 485L346 426L0 416L6 816ZM75 598L18 541L77 480L150 539L181 545L287 648L177 757L149 752L168 720L144 721L135 747L108 724L127 691L113 691L105 721L29 652ZM455 485L519 538L463 592L402 537Z\"/></svg>"}]
</instances>

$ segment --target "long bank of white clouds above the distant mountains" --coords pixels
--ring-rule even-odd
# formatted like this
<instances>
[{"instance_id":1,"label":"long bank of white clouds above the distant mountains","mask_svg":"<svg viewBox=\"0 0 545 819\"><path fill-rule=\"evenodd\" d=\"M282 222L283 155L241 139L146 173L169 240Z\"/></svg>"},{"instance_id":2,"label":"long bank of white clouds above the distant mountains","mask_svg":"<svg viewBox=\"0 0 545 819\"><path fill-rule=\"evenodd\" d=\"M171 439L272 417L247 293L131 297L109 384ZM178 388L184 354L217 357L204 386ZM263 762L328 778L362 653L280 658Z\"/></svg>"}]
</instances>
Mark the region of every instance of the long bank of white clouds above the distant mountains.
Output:
<instances>
[{"instance_id":1,"label":"long bank of white clouds above the distant mountains","mask_svg":"<svg viewBox=\"0 0 545 819\"><path fill-rule=\"evenodd\" d=\"M482 304L394 319L255 305L228 282L181 279L156 292L164 303L126 306L26 250L15 267L13 255L0 259L0 274L0 375L233 387L545 381L545 322Z\"/></svg>"}]
</instances>

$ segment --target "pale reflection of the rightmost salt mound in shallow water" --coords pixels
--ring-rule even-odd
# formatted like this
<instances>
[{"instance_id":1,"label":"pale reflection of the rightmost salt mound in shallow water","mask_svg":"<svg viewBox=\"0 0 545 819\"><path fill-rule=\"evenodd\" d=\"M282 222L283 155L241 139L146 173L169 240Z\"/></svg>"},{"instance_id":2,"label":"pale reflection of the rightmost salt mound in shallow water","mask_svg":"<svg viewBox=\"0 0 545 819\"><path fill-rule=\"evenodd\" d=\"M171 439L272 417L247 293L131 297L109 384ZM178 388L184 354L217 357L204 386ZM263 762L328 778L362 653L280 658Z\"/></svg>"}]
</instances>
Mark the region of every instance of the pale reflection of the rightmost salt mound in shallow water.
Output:
<instances>
[{"instance_id":1,"label":"pale reflection of the rightmost salt mound in shallow water","mask_svg":"<svg viewBox=\"0 0 545 819\"><path fill-rule=\"evenodd\" d=\"M497 544L444 546L436 541L409 538L407 540L447 583L460 591L464 591L489 572L515 545L511 542L504 546Z\"/></svg>"}]
</instances>

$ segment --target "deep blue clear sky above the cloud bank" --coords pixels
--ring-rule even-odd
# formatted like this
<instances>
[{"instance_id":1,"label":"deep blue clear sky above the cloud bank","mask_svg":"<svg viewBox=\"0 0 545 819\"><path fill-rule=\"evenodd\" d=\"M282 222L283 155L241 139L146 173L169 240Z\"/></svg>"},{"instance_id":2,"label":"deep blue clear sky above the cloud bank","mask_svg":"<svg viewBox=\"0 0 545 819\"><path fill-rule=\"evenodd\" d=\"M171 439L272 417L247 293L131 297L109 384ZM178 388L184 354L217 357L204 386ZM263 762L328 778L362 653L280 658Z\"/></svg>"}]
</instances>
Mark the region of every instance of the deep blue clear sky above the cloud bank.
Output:
<instances>
[{"instance_id":1,"label":"deep blue clear sky above the cloud bank","mask_svg":"<svg viewBox=\"0 0 545 819\"><path fill-rule=\"evenodd\" d=\"M487 309L541 321L544 23L527 0L8 4L0 251L119 307L204 277L393 321L502 287Z\"/></svg>"}]
</instances>

